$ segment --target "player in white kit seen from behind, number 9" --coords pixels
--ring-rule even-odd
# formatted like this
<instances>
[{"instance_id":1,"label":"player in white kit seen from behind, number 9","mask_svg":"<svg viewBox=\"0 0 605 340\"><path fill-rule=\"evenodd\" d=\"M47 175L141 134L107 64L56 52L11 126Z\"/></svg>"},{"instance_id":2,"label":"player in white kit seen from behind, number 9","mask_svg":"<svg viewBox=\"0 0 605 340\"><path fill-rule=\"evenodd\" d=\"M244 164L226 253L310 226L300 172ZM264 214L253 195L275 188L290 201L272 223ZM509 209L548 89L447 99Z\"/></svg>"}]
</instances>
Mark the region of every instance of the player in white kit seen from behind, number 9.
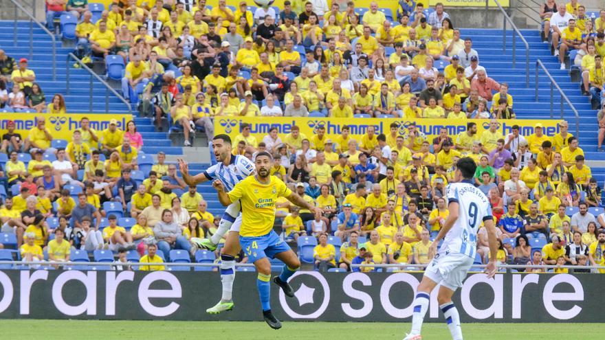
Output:
<instances>
[{"instance_id":1,"label":"player in white kit seen from behind, number 9","mask_svg":"<svg viewBox=\"0 0 605 340\"><path fill-rule=\"evenodd\" d=\"M429 252L434 253L437 250L441 239L443 239L443 245L426 268L422 282L417 288L414 313L412 314L412 330L404 340L422 339L420 330L424 315L428 310L430 292L437 284L441 284L437 301L445 321L448 323L450 333L452 333L452 339L462 339L460 316L452 302L452 295L456 289L462 286L462 281L474 262L477 230L481 221L487 228L489 242L487 277L493 277L496 273L496 253L498 251L496 228L489 200L481 190L472 184L475 170L475 161L469 157L461 158L457 163L455 176L458 183L448 185L447 190L450 216L445 220L445 224L439 230L439 235L430 245Z\"/></svg>"}]
</instances>

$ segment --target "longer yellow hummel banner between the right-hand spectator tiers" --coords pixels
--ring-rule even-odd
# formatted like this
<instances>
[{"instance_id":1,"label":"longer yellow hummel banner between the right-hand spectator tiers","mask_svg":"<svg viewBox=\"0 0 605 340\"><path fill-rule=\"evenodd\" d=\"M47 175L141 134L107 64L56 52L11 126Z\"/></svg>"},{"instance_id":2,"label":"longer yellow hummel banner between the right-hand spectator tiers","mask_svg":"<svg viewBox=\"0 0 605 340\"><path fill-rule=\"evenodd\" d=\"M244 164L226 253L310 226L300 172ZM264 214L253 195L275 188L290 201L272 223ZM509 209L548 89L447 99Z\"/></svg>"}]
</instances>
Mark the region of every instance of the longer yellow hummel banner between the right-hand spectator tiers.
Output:
<instances>
[{"instance_id":1,"label":"longer yellow hummel banner between the right-hand spectator tiers","mask_svg":"<svg viewBox=\"0 0 605 340\"><path fill-rule=\"evenodd\" d=\"M398 118L317 118L317 117L214 117L214 133L225 133L232 139L241 133L241 124L250 124L250 133L256 137L257 141L262 141L265 135L269 134L272 127L278 129L282 139L287 133L292 131L292 126L300 128L300 133L304 133L307 138L311 138L317 131L317 128L323 126L326 129L328 137L334 138L340 135L342 126L349 126L351 136L361 141L362 135L366 133L368 126L375 126L376 135L391 133L391 124L397 124L399 135L408 133L407 126L415 123L417 128L422 131L429 141L439 135L441 128L448 129L448 135L454 138L459 133L466 131L468 122L477 124L477 133L481 136L483 131L489 129L489 120L446 120L446 119L428 119L421 118L417 120L403 120ZM544 134L553 136L559 132L558 120L542 120L540 123L544 126ZM519 126L520 135L529 136L533 133L533 126L538 123L537 120L499 120L498 131L503 136L511 133L514 125ZM504 138L504 137L503 137Z\"/></svg>"}]
</instances>

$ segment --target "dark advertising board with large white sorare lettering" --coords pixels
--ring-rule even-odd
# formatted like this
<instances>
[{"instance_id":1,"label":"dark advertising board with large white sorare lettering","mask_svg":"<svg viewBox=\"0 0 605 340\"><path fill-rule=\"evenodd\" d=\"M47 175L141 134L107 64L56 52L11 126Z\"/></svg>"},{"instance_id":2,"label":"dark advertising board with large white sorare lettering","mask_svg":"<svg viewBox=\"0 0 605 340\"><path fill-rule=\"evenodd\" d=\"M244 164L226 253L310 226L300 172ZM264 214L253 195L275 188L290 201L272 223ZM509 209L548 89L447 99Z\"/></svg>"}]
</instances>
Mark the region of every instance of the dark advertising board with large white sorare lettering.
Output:
<instances>
[{"instance_id":1,"label":"dark advertising board with large white sorare lettering","mask_svg":"<svg viewBox=\"0 0 605 340\"><path fill-rule=\"evenodd\" d=\"M272 310L287 321L410 321L421 273L319 273L290 280L287 298L272 284ZM454 294L463 322L602 322L605 275L468 275ZM442 322L437 291L428 321ZM235 308L208 315L221 297L215 272L0 271L3 319L261 320L256 273L239 272Z\"/></svg>"}]
</instances>

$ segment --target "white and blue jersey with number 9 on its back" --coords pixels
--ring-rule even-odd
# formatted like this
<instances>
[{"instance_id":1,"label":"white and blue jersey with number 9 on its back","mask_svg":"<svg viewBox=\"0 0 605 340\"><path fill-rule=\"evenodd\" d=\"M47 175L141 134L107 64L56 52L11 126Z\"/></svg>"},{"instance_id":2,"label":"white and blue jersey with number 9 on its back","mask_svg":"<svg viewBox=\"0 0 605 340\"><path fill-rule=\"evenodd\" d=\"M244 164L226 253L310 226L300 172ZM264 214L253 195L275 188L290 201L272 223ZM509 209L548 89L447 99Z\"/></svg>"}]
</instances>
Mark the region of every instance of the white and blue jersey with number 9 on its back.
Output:
<instances>
[{"instance_id":1,"label":"white and blue jersey with number 9 on its back","mask_svg":"<svg viewBox=\"0 0 605 340\"><path fill-rule=\"evenodd\" d=\"M443 239L439 252L462 253L474 258L477 249L477 231L483 220L491 220L492 207L487 196L470 181L451 183L447 189L448 205L459 204L458 219Z\"/></svg>"}]
</instances>

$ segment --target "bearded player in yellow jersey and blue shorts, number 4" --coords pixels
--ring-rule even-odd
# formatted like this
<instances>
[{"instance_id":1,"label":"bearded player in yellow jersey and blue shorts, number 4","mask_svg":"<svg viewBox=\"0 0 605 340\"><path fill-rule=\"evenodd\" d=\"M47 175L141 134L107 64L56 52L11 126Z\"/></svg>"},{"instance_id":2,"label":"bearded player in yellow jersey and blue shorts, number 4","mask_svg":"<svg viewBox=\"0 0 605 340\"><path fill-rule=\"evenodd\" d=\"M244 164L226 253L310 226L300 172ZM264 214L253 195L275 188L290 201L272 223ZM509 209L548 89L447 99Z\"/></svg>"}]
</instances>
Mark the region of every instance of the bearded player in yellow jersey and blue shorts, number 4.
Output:
<instances>
[{"instance_id":1,"label":"bearded player in yellow jersey and blue shorts, number 4","mask_svg":"<svg viewBox=\"0 0 605 340\"><path fill-rule=\"evenodd\" d=\"M261 298L263 318L271 328L279 329L281 322L271 313L271 262L268 258L278 258L286 264L281 274L273 278L273 282L280 286L288 297L294 297L294 291L287 280L298 270L300 261L294 251L273 231L275 203L278 197L285 197L295 205L316 214L320 213L320 209L289 190L281 179L270 176L273 159L269 152L259 152L254 158L254 164L256 174L237 183L230 192L225 191L222 181L214 181L212 186L219 192L221 204L241 202L239 243L259 272L256 288Z\"/></svg>"}]
</instances>

